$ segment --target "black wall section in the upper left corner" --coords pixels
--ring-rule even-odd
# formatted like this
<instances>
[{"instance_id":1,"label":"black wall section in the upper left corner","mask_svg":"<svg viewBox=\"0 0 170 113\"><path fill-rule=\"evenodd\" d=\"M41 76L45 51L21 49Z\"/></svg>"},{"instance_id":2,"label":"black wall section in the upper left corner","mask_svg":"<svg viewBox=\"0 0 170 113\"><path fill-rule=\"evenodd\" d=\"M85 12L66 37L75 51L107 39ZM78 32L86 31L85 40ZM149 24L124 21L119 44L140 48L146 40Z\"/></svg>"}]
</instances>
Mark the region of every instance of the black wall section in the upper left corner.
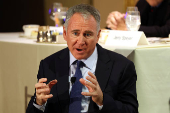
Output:
<instances>
[{"instance_id":1,"label":"black wall section in the upper left corner","mask_svg":"<svg viewBox=\"0 0 170 113\"><path fill-rule=\"evenodd\" d=\"M23 31L24 24L44 25L44 0L1 0L0 32Z\"/></svg>"}]
</instances>

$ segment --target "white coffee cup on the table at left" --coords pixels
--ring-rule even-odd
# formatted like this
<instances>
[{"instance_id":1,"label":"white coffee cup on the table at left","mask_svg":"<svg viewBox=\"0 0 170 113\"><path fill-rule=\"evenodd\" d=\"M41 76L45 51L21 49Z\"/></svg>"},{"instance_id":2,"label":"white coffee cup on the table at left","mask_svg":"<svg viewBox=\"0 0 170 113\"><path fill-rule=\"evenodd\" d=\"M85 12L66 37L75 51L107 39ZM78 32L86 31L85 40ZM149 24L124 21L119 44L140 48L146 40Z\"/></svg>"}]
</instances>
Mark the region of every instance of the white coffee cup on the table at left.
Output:
<instances>
[{"instance_id":1,"label":"white coffee cup on the table at left","mask_svg":"<svg viewBox=\"0 0 170 113\"><path fill-rule=\"evenodd\" d=\"M25 36L31 36L32 31L38 32L39 25L36 24L29 24L29 25L23 25L24 35Z\"/></svg>"}]
</instances>

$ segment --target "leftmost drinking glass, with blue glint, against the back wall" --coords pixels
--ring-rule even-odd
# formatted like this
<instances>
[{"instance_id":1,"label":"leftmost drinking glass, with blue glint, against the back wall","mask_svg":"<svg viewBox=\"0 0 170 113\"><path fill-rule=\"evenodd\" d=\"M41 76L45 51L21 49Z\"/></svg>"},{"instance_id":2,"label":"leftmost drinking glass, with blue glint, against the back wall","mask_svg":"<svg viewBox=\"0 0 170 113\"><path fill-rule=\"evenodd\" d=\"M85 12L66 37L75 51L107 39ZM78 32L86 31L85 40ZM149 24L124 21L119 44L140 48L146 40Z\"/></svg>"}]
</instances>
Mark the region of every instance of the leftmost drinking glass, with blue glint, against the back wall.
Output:
<instances>
[{"instance_id":1,"label":"leftmost drinking glass, with blue glint, against the back wall","mask_svg":"<svg viewBox=\"0 0 170 113\"><path fill-rule=\"evenodd\" d=\"M59 7L62 7L62 4L61 3L58 3L58 2L55 2L52 4L52 6L50 7L48 13L50 15L50 18L55 21L55 12L57 12L57 9Z\"/></svg>"}]
</instances>

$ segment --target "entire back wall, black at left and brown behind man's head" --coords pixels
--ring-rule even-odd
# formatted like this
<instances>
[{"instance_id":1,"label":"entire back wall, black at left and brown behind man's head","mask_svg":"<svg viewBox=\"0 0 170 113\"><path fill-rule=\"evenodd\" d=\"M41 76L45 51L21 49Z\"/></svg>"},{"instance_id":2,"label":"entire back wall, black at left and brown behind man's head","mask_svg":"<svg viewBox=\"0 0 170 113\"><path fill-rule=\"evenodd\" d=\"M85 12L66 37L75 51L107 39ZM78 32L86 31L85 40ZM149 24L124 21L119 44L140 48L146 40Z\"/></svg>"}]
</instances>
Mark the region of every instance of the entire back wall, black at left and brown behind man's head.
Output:
<instances>
[{"instance_id":1,"label":"entire back wall, black at left and brown behind man's head","mask_svg":"<svg viewBox=\"0 0 170 113\"><path fill-rule=\"evenodd\" d=\"M101 28L106 26L110 12L124 13L127 6L132 6L138 0L1 0L0 3L0 32L21 32L25 24L54 26L48 10L52 3L60 2L63 6L71 7L80 3L91 4L101 13Z\"/></svg>"}]
</instances>

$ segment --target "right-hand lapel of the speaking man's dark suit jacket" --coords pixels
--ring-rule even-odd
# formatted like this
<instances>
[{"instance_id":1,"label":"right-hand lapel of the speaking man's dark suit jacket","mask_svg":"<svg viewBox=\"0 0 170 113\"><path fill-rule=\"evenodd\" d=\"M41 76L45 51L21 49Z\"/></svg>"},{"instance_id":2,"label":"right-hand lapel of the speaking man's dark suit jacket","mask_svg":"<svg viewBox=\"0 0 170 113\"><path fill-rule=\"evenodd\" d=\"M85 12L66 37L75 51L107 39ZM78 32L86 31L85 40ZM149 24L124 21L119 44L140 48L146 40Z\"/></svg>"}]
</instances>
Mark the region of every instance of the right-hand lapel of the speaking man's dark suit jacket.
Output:
<instances>
[{"instance_id":1,"label":"right-hand lapel of the speaking man's dark suit jacket","mask_svg":"<svg viewBox=\"0 0 170 113\"><path fill-rule=\"evenodd\" d=\"M97 78L101 90L104 92L110 77L113 61L110 60L106 50L104 50L98 44L97 44L97 52L98 52L98 60L97 60L95 76ZM89 112L94 111L93 108L96 108L96 110L98 110L96 103L90 100Z\"/></svg>"}]
</instances>

